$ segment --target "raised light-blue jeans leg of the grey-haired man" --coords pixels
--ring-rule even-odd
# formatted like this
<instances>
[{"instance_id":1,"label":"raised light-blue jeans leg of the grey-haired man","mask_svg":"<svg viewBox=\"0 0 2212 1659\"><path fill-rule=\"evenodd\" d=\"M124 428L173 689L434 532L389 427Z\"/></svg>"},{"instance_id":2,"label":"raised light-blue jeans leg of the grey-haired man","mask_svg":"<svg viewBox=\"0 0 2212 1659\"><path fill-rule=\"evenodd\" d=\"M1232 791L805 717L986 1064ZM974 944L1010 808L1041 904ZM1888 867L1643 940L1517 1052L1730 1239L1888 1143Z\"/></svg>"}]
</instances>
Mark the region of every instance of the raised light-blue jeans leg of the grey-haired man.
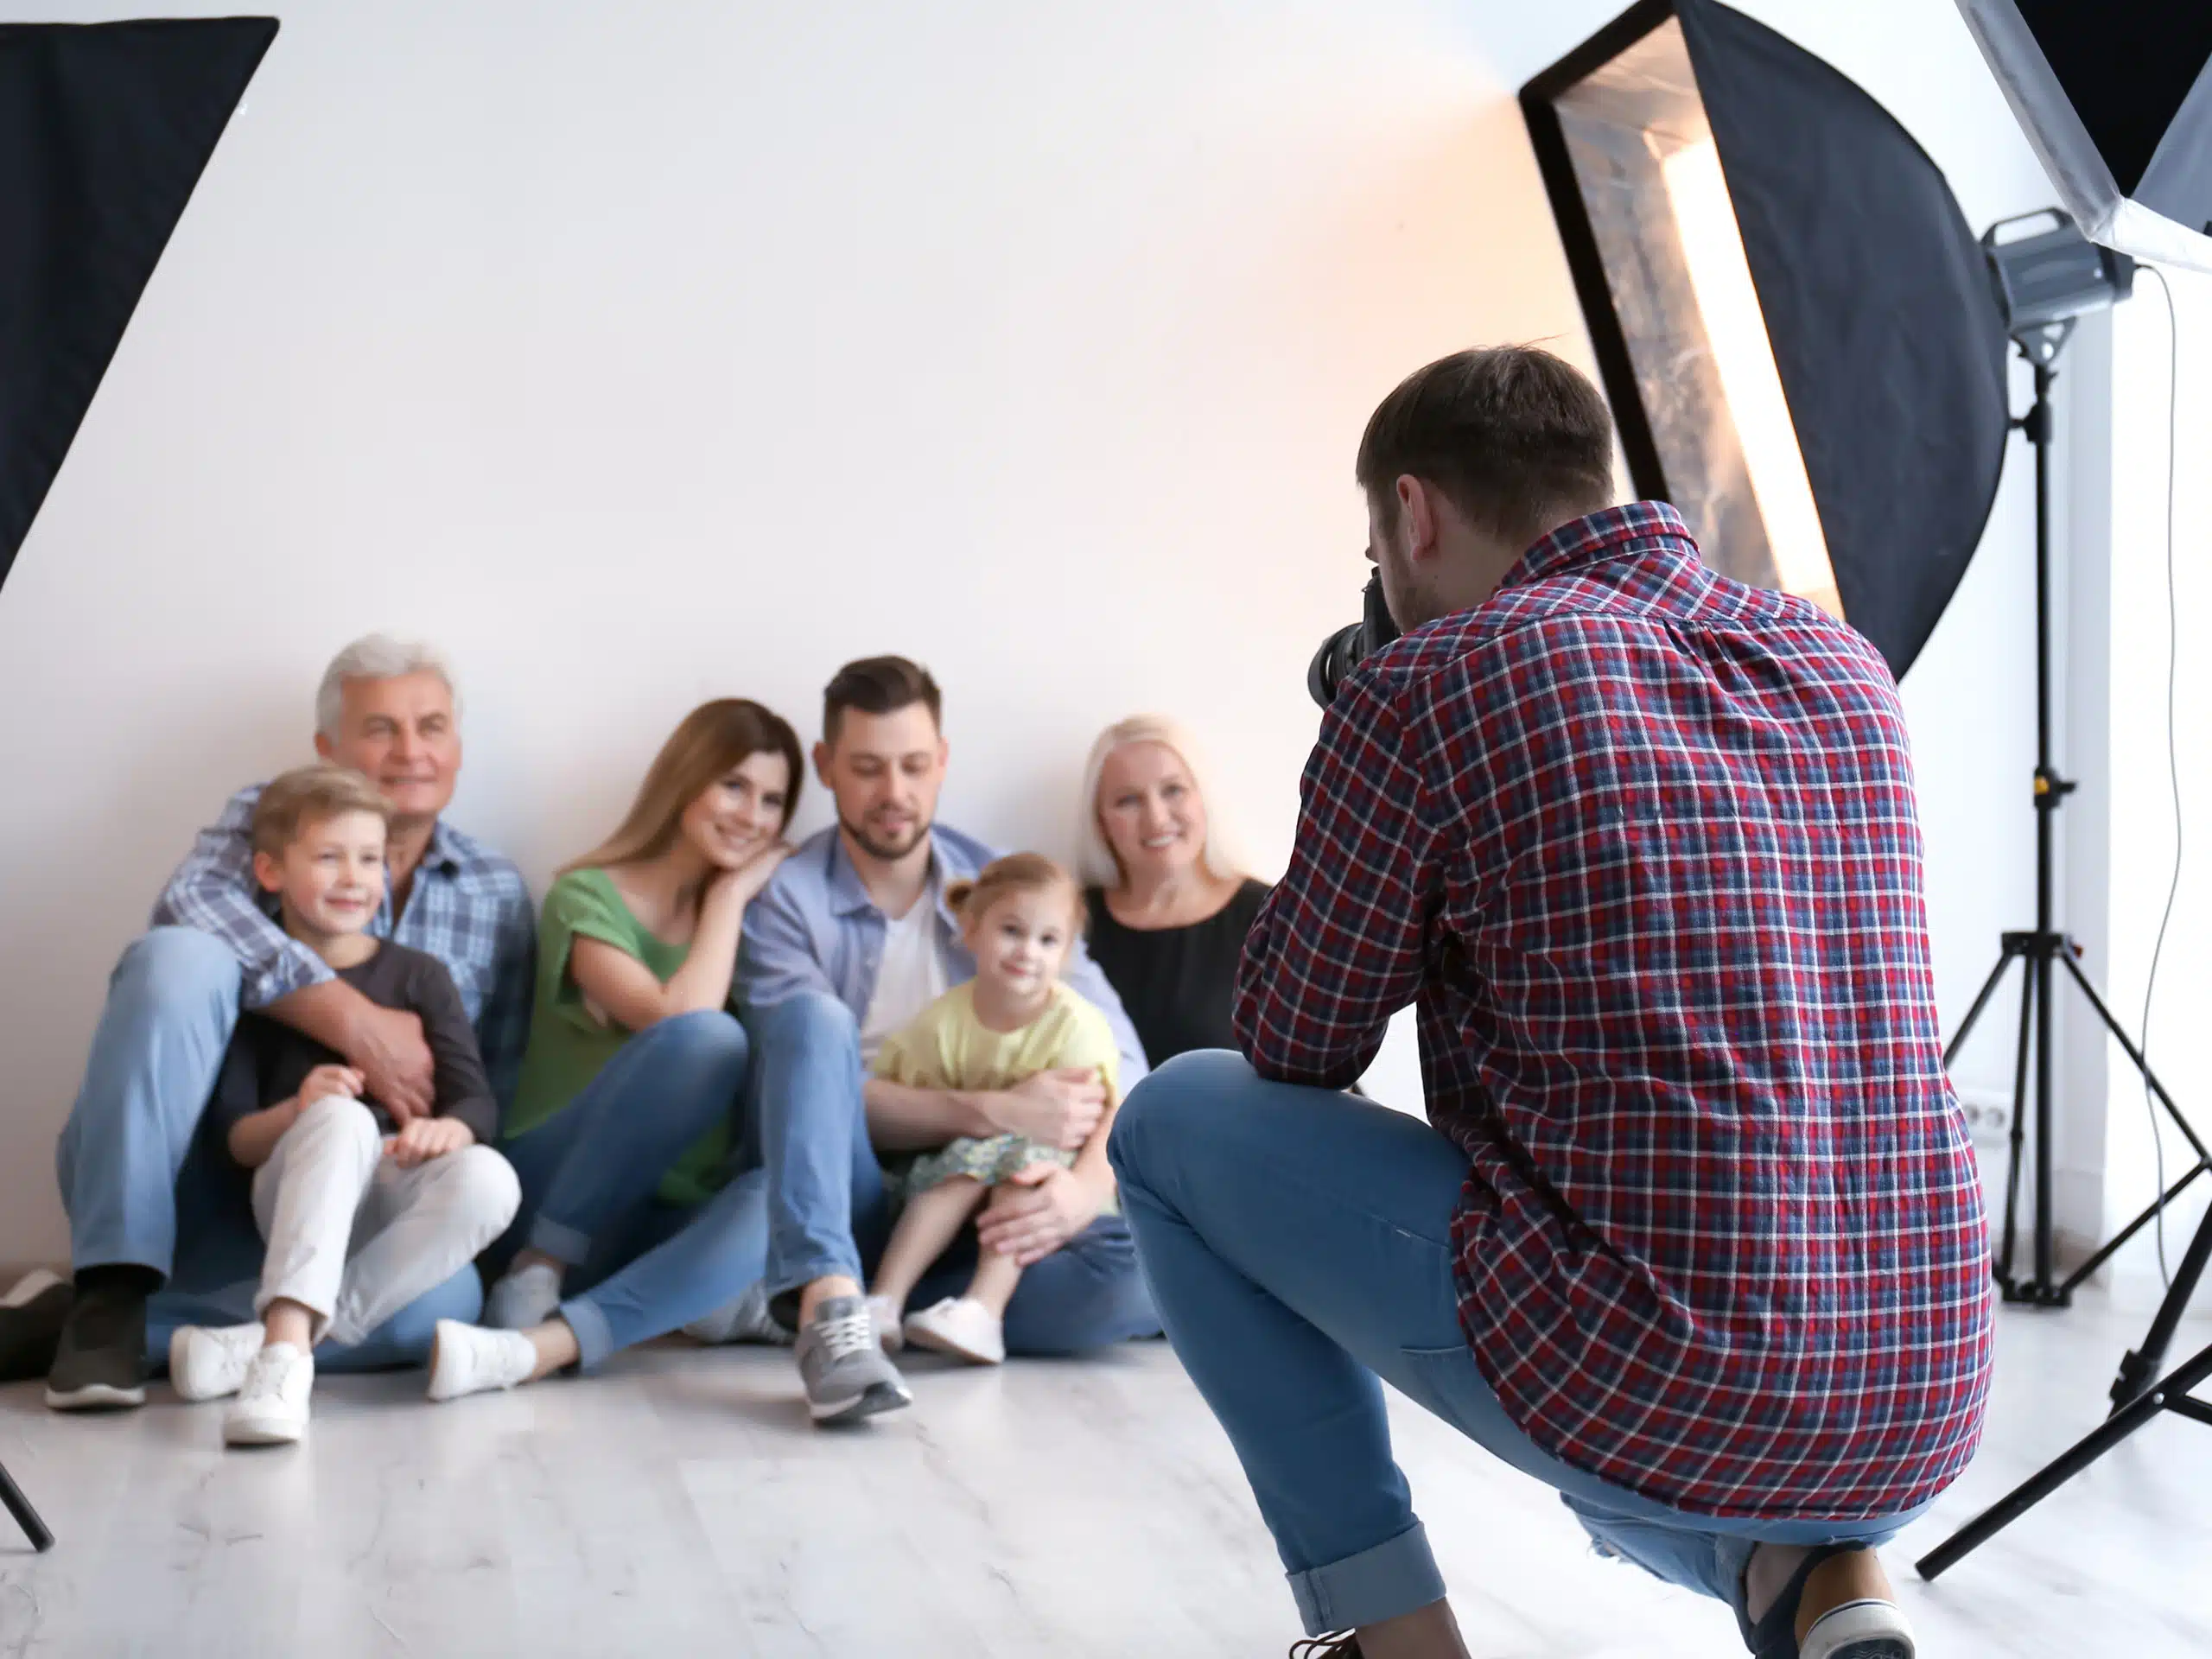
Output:
<instances>
[{"instance_id":1,"label":"raised light-blue jeans leg of the grey-haired man","mask_svg":"<svg viewBox=\"0 0 2212 1659\"><path fill-rule=\"evenodd\" d=\"M170 1272L177 1175L237 1022L239 960L212 933L157 927L124 951L55 1148L73 1265Z\"/></svg>"}]
</instances>

